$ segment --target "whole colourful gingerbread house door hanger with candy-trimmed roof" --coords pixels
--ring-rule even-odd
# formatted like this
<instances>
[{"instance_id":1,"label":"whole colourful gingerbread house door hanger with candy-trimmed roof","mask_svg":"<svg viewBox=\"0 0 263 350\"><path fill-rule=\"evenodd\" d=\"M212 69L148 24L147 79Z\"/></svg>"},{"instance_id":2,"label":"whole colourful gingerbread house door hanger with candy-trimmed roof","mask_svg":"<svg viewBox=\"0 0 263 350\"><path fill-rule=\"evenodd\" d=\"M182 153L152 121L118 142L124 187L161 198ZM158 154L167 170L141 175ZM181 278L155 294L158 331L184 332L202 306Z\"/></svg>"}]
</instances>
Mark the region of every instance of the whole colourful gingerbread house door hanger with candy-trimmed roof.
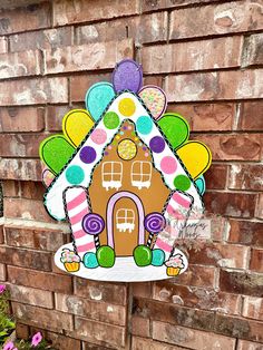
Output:
<instances>
[{"instance_id":1,"label":"whole colourful gingerbread house door hanger with candy-trimmed roof","mask_svg":"<svg viewBox=\"0 0 263 350\"><path fill-rule=\"evenodd\" d=\"M176 239L202 217L211 152L165 113L165 93L142 81L134 60L117 64L113 84L91 86L86 109L70 110L64 134L40 145L43 204L72 236L55 262L71 274L133 282L187 269Z\"/></svg>"}]
</instances>

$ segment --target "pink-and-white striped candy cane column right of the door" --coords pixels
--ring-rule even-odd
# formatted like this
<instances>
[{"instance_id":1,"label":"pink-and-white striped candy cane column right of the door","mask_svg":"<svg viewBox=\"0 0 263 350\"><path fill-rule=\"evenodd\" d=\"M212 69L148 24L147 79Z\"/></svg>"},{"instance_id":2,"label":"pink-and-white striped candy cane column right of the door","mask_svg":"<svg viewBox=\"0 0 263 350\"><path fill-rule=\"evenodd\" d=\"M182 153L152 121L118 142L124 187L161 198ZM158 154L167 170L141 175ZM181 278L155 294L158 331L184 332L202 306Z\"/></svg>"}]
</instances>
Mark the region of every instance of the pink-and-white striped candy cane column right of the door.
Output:
<instances>
[{"instance_id":1,"label":"pink-and-white striped candy cane column right of the door","mask_svg":"<svg viewBox=\"0 0 263 350\"><path fill-rule=\"evenodd\" d=\"M167 226L162 231L155 242L155 249L162 249L165 252L166 260L169 257L175 240L184 229L192 205L192 198L184 193L175 192L166 206L164 216L167 220ZM174 226L172 226L175 224Z\"/></svg>"}]
</instances>

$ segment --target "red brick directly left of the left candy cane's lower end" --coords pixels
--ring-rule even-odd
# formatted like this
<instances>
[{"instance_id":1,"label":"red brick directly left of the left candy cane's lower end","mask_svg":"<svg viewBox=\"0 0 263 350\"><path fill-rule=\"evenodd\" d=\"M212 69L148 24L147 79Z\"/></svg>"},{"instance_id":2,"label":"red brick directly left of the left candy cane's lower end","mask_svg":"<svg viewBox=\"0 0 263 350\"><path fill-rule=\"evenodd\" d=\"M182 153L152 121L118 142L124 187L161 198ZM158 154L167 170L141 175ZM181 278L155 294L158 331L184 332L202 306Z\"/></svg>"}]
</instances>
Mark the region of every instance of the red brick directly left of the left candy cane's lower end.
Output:
<instances>
[{"instance_id":1,"label":"red brick directly left of the left candy cane's lower end","mask_svg":"<svg viewBox=\"0 0 263 350\"><path fill-rule=\"evenodd\" d=\"M56 252L65 243L60 230L6 225L4 232L7 244L17 247Z\"/></svg>"}]
</instances>

